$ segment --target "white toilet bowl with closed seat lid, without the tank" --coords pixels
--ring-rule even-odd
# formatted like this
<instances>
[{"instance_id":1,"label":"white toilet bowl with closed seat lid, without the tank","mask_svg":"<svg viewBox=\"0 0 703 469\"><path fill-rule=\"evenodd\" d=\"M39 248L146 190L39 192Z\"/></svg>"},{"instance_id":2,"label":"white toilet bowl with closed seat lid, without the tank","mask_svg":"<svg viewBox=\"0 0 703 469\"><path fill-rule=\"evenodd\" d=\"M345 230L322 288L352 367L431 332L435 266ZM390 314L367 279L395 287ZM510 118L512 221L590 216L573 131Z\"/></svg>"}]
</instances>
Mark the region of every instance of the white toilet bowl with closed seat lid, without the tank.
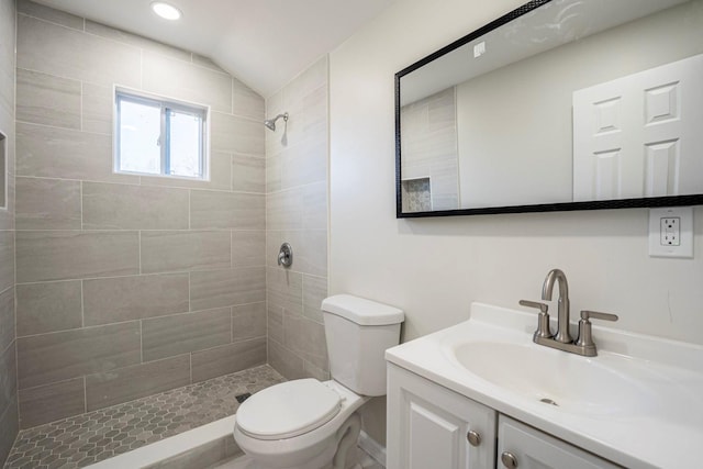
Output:
<instances>
[{"instance_id":1,"label":"white toilet bowl with closed seat lid, without the tank","mask_svg":"<svg viewBox=\"0 0 703 469\"><path fill-rule=\"evenodd\" d=\"M350 469L361 428L356 411L369 399L335 381L276 384L239 409L234 438L256 469Z\"/></svg>"}]
</instances>

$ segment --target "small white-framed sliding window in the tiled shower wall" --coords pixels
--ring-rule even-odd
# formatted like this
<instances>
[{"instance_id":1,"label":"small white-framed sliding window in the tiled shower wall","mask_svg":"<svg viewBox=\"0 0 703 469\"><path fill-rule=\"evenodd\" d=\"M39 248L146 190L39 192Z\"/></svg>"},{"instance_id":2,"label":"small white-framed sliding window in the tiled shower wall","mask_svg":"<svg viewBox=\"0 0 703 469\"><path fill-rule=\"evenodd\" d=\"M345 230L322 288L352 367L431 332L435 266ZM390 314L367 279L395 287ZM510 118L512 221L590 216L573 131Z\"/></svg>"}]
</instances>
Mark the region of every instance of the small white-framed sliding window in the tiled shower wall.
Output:
<instances>
[{"instance_id":1,"label":"small white-framed sliding window in the tiled shower wall","mask_svg":"<svg viewBox=\"0 0 703 469\"><path fill-rule=\"evenodd\" d=\"M205 179L208 109L115 90L115 170Z\"/></svg>"}]
</instances>

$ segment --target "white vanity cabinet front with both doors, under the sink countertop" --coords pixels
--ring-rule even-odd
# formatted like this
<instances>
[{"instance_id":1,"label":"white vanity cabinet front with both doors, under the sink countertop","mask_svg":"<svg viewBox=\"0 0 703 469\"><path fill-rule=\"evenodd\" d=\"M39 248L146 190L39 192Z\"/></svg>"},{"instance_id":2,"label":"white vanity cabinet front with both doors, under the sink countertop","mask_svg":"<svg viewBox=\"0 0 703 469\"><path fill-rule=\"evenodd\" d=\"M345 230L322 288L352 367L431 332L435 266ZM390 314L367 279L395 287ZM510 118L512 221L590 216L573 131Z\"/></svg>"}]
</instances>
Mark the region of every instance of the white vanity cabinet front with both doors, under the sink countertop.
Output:
<instances>
[{"instance_id":1,"label":"white vanity cabinet front with both doors, under the sink countertop","mask_svg":"<svg viewBox=\"0 0 703 469\"><path fill-rule=\"evenodd\" d=\"M387 468L620 466L389 362Z\"/></svg>"}]
</instances>

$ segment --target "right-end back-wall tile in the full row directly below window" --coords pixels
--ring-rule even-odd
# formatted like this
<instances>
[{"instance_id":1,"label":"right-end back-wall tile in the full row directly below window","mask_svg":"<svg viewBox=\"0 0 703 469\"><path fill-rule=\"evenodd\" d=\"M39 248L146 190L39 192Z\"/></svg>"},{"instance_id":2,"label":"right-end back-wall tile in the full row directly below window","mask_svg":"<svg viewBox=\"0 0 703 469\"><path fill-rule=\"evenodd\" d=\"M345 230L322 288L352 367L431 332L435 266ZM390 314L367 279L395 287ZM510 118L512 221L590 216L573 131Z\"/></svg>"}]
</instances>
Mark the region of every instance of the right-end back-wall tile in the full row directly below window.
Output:
<instances>
[{"instance_id":1,"label":"right-end back-wall tile in the full row directly below window","mask_svg":"<svg viewBox=\"0 0 703 469\"><path fill-rule=\"evenodd\" d=\"M193 190L190 194L192 228L265 230L264 194Z\"/></svg>"}]
</instances>

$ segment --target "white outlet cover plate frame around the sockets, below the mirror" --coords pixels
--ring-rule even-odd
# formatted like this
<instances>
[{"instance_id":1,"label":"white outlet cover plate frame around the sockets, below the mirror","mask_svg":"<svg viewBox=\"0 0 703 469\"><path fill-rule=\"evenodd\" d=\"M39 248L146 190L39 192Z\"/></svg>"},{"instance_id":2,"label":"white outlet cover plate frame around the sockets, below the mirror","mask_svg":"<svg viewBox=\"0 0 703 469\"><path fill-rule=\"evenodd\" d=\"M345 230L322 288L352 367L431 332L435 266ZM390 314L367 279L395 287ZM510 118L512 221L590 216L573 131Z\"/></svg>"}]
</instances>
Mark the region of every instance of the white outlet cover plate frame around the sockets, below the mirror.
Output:
<instances>
[{"instance_id":1,"label":"white outlet cover plate frame around the sockets, below the mirror","mask_svg":"<svg viewBox=\"0 0 703 469\"><path fill-rule=\"evenodd\" d=\"M681 239L678 246L661 244L661 219L678 217L681 221ZM649 256L693 258L693 208L671 206L649 209Z\"/></svg>"}]
</instances>

